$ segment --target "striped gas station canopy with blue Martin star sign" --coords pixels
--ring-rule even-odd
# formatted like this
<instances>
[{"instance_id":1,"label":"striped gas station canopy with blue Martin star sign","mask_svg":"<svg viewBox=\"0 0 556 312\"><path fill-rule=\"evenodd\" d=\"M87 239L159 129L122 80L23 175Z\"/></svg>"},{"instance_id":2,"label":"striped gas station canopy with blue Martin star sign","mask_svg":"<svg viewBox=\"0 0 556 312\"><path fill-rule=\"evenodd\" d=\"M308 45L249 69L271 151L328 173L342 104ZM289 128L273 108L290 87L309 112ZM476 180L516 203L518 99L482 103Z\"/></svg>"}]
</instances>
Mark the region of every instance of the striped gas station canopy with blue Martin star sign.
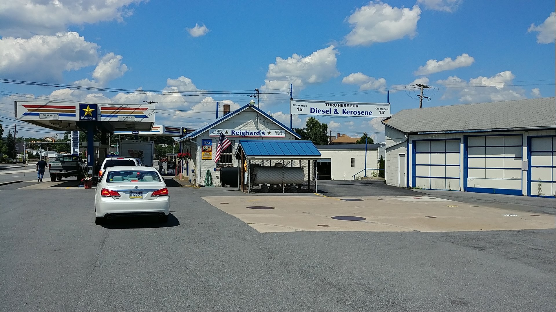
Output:
<instances>
[{"instance_id":1,"label":"striped gas station canopy with blue Martin star sign","mask_svg":"<svg viewBox=\"0 0 556 312\"><path fill-rule=\"evenodd\" d=\"M91 124L105 133L150 131L155 122L154 104L83 104L66 102L14 102L18 120L65 131L87 130ZM178 134L179 135L179 134Z\"/></svg>"}]
</instances>

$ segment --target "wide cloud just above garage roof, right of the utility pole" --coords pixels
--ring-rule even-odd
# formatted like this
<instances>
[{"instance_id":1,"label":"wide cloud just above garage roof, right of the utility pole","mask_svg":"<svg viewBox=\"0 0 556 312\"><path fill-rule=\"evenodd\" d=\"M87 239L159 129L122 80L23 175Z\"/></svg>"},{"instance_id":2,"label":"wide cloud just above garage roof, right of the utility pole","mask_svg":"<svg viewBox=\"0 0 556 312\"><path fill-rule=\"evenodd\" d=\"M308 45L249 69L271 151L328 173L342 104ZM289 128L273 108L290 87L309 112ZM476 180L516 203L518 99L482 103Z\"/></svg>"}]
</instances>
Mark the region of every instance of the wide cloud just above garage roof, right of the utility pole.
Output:
<instances>
[{"instance_id":1,"label":"wide cloud just above garage roof, right of the utility pole","mask_svg":"<svg viewBox=\"0 0 556 312\"><path fill-rule=\"evenodd\" d=\"M440 99L458 98L460 103L498 102L502 100L524 99L525 90L513 86L515 76L510 71L495 74L492 77L479 76L469 81L451 76L436 81L444 85L446 92Z\"/></svg>"}]
</instances>

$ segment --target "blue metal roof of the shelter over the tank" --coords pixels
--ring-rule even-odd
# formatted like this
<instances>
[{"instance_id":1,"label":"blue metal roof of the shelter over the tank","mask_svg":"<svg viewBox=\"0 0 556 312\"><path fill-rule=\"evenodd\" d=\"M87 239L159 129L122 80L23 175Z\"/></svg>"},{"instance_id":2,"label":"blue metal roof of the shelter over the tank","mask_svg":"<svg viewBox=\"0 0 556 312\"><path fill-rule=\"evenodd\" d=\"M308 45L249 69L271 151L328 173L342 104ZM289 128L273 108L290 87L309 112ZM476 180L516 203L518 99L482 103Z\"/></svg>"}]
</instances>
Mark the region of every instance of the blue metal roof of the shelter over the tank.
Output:
<instances>
[{"instance_id":1,"label":"blue metal roof of the shelter over the tank","mask_svg":"<svg viewBox=\"0 0 556 312\"><path fill-rule=\"evenodd\" d=\"M319 150L311 141L240 140L236 158L319 159Z\"/></svg>"}]
</instances>

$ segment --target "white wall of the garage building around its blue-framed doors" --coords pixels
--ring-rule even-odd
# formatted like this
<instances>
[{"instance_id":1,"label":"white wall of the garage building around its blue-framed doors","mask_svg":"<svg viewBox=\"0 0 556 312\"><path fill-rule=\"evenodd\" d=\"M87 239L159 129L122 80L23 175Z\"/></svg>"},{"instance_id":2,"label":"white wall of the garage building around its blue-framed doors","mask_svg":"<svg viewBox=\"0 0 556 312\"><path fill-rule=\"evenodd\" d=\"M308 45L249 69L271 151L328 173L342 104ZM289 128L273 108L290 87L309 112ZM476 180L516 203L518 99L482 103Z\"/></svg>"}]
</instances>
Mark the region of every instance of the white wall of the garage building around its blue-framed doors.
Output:
<instances>
[{"instance_id":1,"label":"white wall of the garage building around its blue-framed doors","mask_svg":"<svg viewBox=\"0 0 556 312\"><path fill-rule=\"evenodd\" d=\"M507 134L521 134L522 140L522 155L523 160L527 160L527 138L529 136L537 135L556 135L556 130L530 130L530 131L517 131L517 132L479 132L479 133L450 133L450 134L419 134L409 135L407 142L396 145L394 148L389 148L391 145L404 140L404 133L386 125L386 157L385 157L385 177L386 184L399 186L399 167L398 158L399 154L406 154L408 157L409 168L406 168L407 176L409 177L408 187L415 187L411 185L413 172L411 164L414 162L413 155L407 150L413 150L413 140L438 140L438 139L460 139L460 190L464 189L464 135L507 135ZM409 149L408 149L409 147ZM522 170L522 193L527 195L527 170ZM546 185L549 189L551 185ZM454 188L455 189L455 188ZM532 189L532 194L535 195L535 189Z\"/></svg>"}]
</instances>

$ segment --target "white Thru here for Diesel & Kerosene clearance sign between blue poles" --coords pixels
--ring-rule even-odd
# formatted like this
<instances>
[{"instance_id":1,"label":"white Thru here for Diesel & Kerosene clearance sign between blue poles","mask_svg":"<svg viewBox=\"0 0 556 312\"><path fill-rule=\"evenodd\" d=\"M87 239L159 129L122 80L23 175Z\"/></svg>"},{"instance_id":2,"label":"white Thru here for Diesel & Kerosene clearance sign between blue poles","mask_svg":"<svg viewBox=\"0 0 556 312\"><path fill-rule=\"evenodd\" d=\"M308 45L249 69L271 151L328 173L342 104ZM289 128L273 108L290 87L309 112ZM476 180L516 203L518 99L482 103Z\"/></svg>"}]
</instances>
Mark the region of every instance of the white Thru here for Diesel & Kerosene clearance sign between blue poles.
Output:
<instances>
[{"instance_id":1,"label":"white Thru here for Diesel & Kerosene clearance sign between blue poles","mask_svg":"<svg viewBox=\"0 0 556 312\"><path fill-rule=\"evenodd\" d=\"M390 117L388 103L332 102L324 100L290 100L290 114L350 117Z\"/></svg>"}]
</instances>

